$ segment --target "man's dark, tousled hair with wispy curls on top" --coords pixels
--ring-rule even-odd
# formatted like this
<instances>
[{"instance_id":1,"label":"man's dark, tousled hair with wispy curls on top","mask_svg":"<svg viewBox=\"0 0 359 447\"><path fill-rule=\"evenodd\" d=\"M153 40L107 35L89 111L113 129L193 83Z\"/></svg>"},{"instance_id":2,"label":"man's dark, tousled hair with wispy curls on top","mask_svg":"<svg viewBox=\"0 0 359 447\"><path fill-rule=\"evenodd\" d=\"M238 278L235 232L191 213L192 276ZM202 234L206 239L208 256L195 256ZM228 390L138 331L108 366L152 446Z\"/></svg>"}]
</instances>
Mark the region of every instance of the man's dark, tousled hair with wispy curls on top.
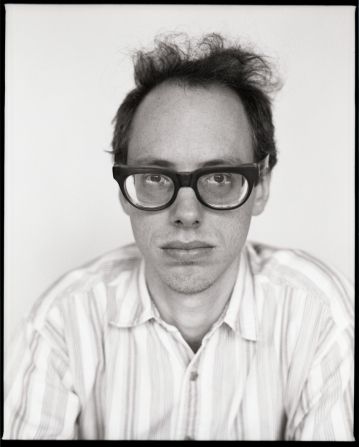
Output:
<instances>
[{"instance_id":1,"label":"man's dark, tousled hair with wispy curls on top","mask_svg":"<svg viewBox=\"0 0 359 447\"><path fill-rule=\"evenodd\" d=\"M178 37L178 36L176 36ZM174 81L188 86L227 86L240 97L252 129L256 160L267 154L270 169L277 162L270 93L279 87L264 56L225 45L219 34L205 35L193 44L187 39L181 47L169 36L156 39L152 51L138 51L134 57L136 87L131 90L113 120L112 153L116 162L126 163L131 123L141 101L157 85Z\"/></svg>"}]
</instances>

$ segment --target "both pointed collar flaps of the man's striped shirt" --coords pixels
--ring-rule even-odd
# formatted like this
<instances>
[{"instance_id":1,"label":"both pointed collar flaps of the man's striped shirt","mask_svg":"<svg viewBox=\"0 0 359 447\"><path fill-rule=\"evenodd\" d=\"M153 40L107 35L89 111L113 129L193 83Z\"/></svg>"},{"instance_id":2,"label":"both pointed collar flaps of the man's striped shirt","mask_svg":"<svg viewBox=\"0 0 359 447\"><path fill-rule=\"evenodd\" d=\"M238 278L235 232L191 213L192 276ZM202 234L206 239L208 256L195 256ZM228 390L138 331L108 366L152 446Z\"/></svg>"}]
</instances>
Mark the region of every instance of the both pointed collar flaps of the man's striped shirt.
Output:
<instances>
[{"instance_id":1,"label":"both pointed collar flaps of the man's striped shirt","mask_svg":"<svg viewBox=\"0 0 359 447\"><path fill-rule=\"evenodd\" d=\"M121 272L109 284L108 318L109 323L119 327L133 327L160 318L147 289L143 258L136 260L132 268ZM223 322L243 338L257 340L254 281L246 247L240 255L237 279L224 311Z\"/></svg>"}]
</instances>

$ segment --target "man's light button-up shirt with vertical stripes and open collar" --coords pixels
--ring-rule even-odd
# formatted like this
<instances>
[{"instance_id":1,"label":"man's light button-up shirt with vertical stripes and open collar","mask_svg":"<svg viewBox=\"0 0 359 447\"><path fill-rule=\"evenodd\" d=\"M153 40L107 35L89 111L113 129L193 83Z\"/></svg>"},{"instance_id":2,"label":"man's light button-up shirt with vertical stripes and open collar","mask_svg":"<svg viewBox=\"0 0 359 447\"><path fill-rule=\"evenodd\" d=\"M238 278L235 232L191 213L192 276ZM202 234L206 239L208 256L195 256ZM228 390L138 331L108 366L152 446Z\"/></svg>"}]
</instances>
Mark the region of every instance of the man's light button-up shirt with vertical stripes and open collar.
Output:
<instances>
[{"instance_id":1,"label":"man's light button-up shirt with vertical stripes and open collar","mask_svg":"<svg viewBox=\"0 0 359 447\"><path fill-rule=\"evenodd\" d=\"M4 439L354 440L352 285L303 251L247 242L194 353L135 245L62 277L6 362Z\"/></svg>"}]
</instances>

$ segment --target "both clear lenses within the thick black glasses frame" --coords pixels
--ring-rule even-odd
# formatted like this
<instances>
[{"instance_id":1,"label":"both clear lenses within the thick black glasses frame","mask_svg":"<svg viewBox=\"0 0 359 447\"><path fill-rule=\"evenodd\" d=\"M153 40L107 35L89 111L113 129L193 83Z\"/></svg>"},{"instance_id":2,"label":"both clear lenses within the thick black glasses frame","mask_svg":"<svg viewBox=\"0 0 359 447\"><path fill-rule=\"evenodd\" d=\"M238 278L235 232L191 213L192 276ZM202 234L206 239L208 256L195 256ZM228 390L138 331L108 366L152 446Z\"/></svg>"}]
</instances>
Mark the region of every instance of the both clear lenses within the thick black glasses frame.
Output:
<instances>
[{"instance_id":1,"label":"both clear lenses within the thick black glasses frame","mask_svg":"<svg viewBox=\"0 0 359 447\"><path fill-rule=\"evenodd\" d=\"M129 175L125 188L135 205L148 208L165 205L175 191L173 180L158 173ZM246 197L248 188L248 181L238 173L213 172L199 177L197 181L202 200L219 209L239 205Z\"/></svg>"}]
</instances>

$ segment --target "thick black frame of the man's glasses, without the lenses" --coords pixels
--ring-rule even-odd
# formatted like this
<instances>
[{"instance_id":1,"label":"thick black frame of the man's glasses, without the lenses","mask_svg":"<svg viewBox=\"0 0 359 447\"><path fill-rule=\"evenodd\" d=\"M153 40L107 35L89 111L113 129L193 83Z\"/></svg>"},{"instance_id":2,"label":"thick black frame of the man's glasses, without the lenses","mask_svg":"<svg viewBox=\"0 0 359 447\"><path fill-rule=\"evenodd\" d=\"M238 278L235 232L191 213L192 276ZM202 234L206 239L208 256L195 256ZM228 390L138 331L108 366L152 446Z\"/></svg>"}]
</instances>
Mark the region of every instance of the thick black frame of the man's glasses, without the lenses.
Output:
<instances>
[{"instance_id":1,"label":"thick black frame of the man's glasses, without the lenses","mask_svg":"<svg viewBox=\"0 0 359 447\"><path fill-rule=\"evenodd\" d=\"M196 194L196 197L202 205L211 208L216 211L228 211L233 210L235 208L239 208L242 206L251 195L253 187L258 184L258 181L261 177L263 177L269 170L268 168L269 155L263 158L261 161L257 163L245 163L239 166L210 166L205 168L199 168L190 172L177 172L173 169L161 168L158 166L129 166L121 163L115 163L112 167L112 175L116 182L119 184L122 194L126 198L126 200L135 208L138 208L143 211L160 211L165 208L168 208L172 205L172 203L176 200L177 194L180 188L182 187L190 187ZM243 175L248 182L248 191L244 196L242 202L239 205L234 205L228 208L215 207L209 205L205 202L197 189L197 181L202 175L213 174L213 173L222 173L222 172L234 172L237 174ZM131 201L131 198L127 194L125 188L126 178L133 174L162 174L169 177L173 181L174 191L172 198L165 203L164 205L157 207L144 207L138 205Z\"/></svg>"}]
</instances>

